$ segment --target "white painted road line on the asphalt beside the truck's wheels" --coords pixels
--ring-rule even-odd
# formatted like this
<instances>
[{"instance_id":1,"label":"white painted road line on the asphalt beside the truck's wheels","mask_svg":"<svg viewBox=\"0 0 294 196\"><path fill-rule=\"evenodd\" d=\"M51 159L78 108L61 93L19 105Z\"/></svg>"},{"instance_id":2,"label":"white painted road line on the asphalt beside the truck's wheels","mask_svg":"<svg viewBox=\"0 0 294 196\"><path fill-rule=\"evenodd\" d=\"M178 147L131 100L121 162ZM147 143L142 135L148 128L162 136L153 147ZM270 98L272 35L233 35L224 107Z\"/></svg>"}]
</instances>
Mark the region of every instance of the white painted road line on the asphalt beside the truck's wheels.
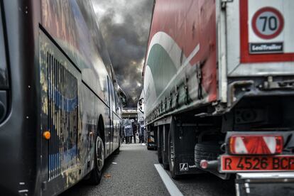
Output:
<instances>
[{"instance_id":1,"label":"white painted road line on the asphalt beside the truck's wheels","mask_svg":"<svg viewBox=\"0 0 294 196\"><path fill-rule=\"evenodd\" d=\"M163 183L170 193L171 196L182 196L182 192L178 189L178 187L173 183L173 180L170 179L170 176L165 172L163 169L163 166L160 164L154 164L156 167L156 170L158 171L161 180L163 180Z\"/></svg>"}]
</instances>

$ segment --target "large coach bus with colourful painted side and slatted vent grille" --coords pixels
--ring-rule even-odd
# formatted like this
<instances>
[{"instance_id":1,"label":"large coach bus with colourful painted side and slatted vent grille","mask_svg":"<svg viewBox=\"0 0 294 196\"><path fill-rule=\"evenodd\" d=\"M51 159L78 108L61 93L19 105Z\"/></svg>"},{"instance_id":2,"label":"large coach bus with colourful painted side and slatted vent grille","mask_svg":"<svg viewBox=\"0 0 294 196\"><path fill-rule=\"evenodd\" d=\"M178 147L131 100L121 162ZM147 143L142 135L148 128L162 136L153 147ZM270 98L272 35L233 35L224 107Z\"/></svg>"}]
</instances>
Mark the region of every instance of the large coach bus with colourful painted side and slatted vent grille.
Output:
<instances>
[{"instance_id":1,"label":"large coach bus with colourful painted side and slatted vent grille","mask_svg":"<svg viewBox=\"0 0 294 196\"><path fill-rule=\"evenodd\" d=\"M0 1L0 190L58 195L119 150L118 85L92 1Z\"/></svg>"}]
</instances>

